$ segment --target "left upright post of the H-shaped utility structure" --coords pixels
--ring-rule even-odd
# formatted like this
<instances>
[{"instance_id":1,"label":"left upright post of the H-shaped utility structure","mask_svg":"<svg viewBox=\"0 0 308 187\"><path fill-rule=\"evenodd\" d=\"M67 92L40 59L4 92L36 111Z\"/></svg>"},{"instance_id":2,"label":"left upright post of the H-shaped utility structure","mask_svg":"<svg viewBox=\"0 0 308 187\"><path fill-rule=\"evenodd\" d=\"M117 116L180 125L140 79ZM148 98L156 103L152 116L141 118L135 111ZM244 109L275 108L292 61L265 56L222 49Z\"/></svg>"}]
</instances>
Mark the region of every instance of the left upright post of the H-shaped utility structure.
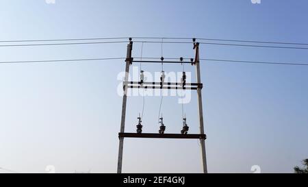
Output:
<instances>
[{"instance_id":1,"label":"left upright post of the H-shaped utility structure","mask_svg":"<svg viewBox=\"0 0 308 187\"><path fill-rule=\"evenodd\" d=\"M120 132L124 133L125 130L125 114L126 114L126 103L127 103L127 82L129 77L129 66L131 65L131 51L133 49L133 42L131 38L129 38L129 44L127 45L127 55L126 55L126 66L125 66L125 83L123 85L124 95L123 95L123 103L122 103L122 116L121 116L121 127ZM117 173L122 173L122 160L123 160L123 143L124 138L119 138L120 142L118 145L118 170Z\"/></svg>"}]
</instances>

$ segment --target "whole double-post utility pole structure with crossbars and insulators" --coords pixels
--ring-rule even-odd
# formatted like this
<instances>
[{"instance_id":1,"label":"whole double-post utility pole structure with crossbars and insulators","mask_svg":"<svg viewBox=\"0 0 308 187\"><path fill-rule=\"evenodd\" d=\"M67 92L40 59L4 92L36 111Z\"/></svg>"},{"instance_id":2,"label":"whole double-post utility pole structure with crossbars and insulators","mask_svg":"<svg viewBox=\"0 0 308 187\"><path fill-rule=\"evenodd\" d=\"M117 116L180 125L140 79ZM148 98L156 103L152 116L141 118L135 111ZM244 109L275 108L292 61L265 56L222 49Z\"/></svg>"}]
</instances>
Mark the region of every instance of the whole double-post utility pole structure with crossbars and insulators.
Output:
<instances>
[{"instance_id":1,"label":"whole double-post utility pole structure with crossbars and insulators","mask_svg":"<svg viewBox=\"0 0 308 187\"><path fill-rule=\"evenodd\" d=\"M125 80L123 82L123 105L122 105L122 116L121 116L121 126L120 132L118 134L119 138L119 149L118 149L118 173L122 173L122 161L123 161L123 142L124 138L181 138L181 139L199 139L201 142L201 156L202 156L202 163L203 163L203 173L207 173L207 160L206 160L206 153L205 153L205 139L207 138L204 133L203 127L203 108L202 108L202 96L201 96L201 89L203 88L203 84L201 83L201 73L200 73L200 61L199 61L199 44L195 42L196 40L193 39L195 50L195 58L190 59L190 62L183 62L183 58L180 58L181 62L176 61L164 61L164 58L161 58L161 61L155 60L133 60L131 58L131 51L133 49L133 42L131 38L129 38L129 45L127 45L127 58L125 60ZM164 61L164 62L163 62ZM161 82L144 82L143 80L138 82L129 82L129 66L132 63L178 63L178 64L192 64L196 66L196 83L186 83L184 81L179 82L164 82L164 78L161 77ZM185 72L183 72L183 77L185 76ZM182 78L183 78L182 77ZM165 134L164 131L166 127L164 126L163 119L161 118L161 127L159 129L159 133L142 133L142 125L139 119L139 123L137 125L137 133L127 133L125 132L125 114L126 114L126 105L127 105L127 90L128 88L144 88L144 89L175 89L175 90L196 90L198 95L198 116L199 116L199 126L200 126L200 134L188 134L188 125L186 124L186 118L183 117L183 129L181 130L181 134Z\"/></svg>"}]
</instances>

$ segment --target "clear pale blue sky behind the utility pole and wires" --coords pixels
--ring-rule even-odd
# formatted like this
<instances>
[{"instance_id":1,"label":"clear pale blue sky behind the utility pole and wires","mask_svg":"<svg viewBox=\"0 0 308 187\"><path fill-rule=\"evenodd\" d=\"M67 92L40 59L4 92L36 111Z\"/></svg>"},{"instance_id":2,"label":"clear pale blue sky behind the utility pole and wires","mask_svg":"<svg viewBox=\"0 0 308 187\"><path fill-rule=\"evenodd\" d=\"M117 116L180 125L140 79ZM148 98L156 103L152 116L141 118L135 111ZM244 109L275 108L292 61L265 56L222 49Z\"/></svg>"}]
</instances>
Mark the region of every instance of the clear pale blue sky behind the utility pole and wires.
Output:
<instances>
[{"instance_id":1,"label":"clear pale blue sky behind the utility pole and wires","mask_svg":"<svg viewBox=\"0 0 308 187\"><path fill-rule=\"evenodd\" d=\"M96 37L197 37L308 42L305 0L0 2L0 40ZM160 56L145 44L144 56ZM123 57L126 44L1 47L0 61ZM134 45L140 56L140 44ZM193 55L165 45L166 57ZM201 46L202 58L308 63L307 50ZM308 67L203 62L210 173L292 173L308 157ZM0 64L0 167L26 173L115 173L122 98L121 60ZM159 66L146 66L159 71ZM148 69L147 69L148 68ZM166 71L181 66L166 65ZM194 67L186 71L194 73ZM195 95L193 95L195 96ZM146 97L144 131L157 131L159 97ZM142 98L128 100L135 131ZM177 97L164 99L168 132L181 129ZM185 105L198 132L196 98ZM197 140L125 140L123 172L201 173Z\"/></svg>"}]
</instances>

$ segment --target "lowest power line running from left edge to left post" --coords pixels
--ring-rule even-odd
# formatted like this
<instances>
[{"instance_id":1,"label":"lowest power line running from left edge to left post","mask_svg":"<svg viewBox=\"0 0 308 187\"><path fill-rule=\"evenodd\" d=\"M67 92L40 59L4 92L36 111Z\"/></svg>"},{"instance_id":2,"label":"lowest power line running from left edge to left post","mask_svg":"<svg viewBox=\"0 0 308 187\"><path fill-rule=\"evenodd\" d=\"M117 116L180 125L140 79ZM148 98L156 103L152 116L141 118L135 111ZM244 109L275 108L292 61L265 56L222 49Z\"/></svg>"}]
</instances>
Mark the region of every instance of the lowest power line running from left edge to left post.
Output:
<instances>
[{"instance_id":1,"label":"lowest power line running from left edge to left post","mask_svg":"<svg viewBox=\"0 0 308 187\"><path fill-rule=\"evenodd\" d=\"M94 60L124 60L126 58L82 58L82 59L66 59L66 60L27 60L27 61L2 61L0 64L14 63L40 63L40 62L77 62L77 61L94 61Z\"/></svg>"}]
</instances>

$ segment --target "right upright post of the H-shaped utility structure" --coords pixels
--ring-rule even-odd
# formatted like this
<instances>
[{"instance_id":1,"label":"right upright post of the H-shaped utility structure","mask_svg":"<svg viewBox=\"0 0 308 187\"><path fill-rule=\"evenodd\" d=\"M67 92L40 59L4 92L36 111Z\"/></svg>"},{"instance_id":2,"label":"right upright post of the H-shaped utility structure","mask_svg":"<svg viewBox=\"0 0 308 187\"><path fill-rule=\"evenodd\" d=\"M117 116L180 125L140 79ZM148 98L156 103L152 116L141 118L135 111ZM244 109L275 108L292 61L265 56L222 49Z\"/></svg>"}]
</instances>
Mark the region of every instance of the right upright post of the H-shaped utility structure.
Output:
<instances>
[{"instance_id":1,"label":"right upright post of the H-shaped utility structure","mask_svg":"<svg viewBox=\"0 0 308 187\"><path fill-rule=\"evenodd\" d=\"M195 50L195 62L196 65L196 81L198 84L201 83L201 74L200 74L200 60L199 60L199 43L194 42L194 50ZM198 95L198 113L199 113L199 125L200 125L200 134L204 134L204 126L203 126L203 108L202 108L202 95L201 88L197 88ZM205 152L205 139L200 139L201 144L201 155L202 155L202 163L203 163L203 173L207 173L207 157Z\"/></svg>"}]
</instances>

